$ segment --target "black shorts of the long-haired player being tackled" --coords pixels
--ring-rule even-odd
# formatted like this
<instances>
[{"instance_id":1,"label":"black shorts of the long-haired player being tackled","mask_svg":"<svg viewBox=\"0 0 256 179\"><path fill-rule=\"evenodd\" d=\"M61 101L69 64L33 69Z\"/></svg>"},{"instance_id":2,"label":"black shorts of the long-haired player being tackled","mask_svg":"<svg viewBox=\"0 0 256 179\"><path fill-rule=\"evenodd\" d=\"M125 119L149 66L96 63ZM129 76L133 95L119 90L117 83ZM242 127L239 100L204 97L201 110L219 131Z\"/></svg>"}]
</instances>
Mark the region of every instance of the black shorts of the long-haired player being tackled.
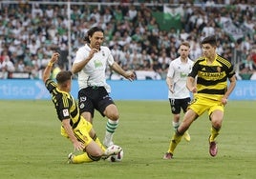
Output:
<instances>
[{"instance_id":1,"label":"black shorts of the long-haired player being tackled","mask_svg":"<svg viewBox=\"0 0 256 179\"><path fill-rule=\"evenodd\" d=\"M87 87L78 92L78 105L80 112L89 111L94 117L95 109L102 116L107 106L115 104L104 87Z\"/></svg>"}]
</instances>

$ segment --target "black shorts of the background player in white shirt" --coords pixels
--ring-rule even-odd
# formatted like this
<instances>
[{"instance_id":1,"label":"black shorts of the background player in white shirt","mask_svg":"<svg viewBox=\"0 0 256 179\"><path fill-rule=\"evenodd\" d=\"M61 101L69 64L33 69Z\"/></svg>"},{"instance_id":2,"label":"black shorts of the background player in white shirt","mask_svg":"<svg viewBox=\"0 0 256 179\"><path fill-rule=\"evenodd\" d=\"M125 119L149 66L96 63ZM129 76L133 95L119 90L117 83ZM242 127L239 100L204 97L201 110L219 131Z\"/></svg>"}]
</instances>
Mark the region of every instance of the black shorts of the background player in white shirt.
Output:
<instances>
[{"instance_id":1,"label":"black shorts of the background player in white shirt","mask_svg":"<svg viewBox=\"0 0 256 179\"><path fill-rule=\"evenodd\" d=\"M170 106L173 114L181 113L181 109L183 112L187 110L187 107L190 105L190 97L183 98L183 99L170 99Z\"/></svg>"}]
</instances>

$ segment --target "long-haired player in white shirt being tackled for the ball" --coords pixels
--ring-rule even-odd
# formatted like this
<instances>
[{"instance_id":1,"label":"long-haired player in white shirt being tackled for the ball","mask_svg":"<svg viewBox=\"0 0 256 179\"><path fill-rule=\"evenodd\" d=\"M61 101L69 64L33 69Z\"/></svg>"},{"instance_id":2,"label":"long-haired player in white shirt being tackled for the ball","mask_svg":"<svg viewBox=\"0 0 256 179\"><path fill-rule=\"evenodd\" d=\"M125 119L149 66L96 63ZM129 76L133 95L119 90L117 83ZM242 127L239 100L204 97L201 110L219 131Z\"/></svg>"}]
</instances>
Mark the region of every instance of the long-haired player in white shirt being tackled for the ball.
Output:
<instances>
[{"instance_id":1,"label":"long-haired player in white shirt being tackled for the ball","mask_svg":"<svg viewBox=\"0 0 256 179\"><path fill-rule=\"evenodd\" d=\"M94 27L88 30L84 40L86 44L76 51L72 68L74 73L78 72L79 109L82 116L91 123L95 109L108 118L103 144L109 147L114 144L112 139L117 129L119 114L117 106L109 96L111 88L106 83L106 68L109 66L130 81L135 79L135 74L133 71L122 70L114 61L111 50L101 46L104 40L102 29Z\"/></svg>"}]
</instances>

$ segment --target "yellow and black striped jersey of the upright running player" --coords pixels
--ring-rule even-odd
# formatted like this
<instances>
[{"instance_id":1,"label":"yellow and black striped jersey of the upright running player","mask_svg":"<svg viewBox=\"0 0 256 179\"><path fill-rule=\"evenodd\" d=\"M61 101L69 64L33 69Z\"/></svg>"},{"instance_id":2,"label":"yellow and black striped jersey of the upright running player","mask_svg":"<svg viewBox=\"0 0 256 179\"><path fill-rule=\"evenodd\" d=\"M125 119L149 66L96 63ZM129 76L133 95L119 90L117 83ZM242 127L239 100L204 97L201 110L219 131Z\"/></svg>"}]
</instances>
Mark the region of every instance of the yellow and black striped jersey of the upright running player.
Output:
<instances>
[{"instance_id":1,"label":"yellow and black striped jersey of the upright running player","mask_svg":"<svg viewBox=\"0 0 256 179\"><path fill-rule=\"evenodd\" d=\"M224 57L216 55L212 64L207 64L205 57L200 57L193 65L188 76L197 76L198 93L224 95L227 78L235 74L233 65Z\"/></svg>"}]
</instances>

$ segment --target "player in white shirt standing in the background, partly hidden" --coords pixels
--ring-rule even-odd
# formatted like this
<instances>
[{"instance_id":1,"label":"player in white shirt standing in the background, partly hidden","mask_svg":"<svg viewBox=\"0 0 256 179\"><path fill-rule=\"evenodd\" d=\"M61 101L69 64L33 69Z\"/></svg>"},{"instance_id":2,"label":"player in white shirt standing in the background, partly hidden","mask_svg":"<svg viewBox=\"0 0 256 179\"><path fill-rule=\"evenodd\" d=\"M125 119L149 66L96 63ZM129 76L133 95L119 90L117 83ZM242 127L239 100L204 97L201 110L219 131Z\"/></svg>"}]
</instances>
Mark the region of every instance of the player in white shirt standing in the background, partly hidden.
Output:
<instances>
[{"instance_id":1,"label":"player in white shirt standing in the background, partly hidden","mask_svg":"<svg viewBox=\"0 0 256 179\"><path fill-rule=\"evenodd\" d=\"M173 128L175 130L180 126L181 109L185 112L191 101L190 92L186 88L186 79L194 62L188 57L189 50L189 43L182 42L179 48L180 56L170 63L166 77L169 89L168 98L173 113ZM186 141L190 141L188 131L184 133L183 137Z\"/></svg>"}]
</instances>

